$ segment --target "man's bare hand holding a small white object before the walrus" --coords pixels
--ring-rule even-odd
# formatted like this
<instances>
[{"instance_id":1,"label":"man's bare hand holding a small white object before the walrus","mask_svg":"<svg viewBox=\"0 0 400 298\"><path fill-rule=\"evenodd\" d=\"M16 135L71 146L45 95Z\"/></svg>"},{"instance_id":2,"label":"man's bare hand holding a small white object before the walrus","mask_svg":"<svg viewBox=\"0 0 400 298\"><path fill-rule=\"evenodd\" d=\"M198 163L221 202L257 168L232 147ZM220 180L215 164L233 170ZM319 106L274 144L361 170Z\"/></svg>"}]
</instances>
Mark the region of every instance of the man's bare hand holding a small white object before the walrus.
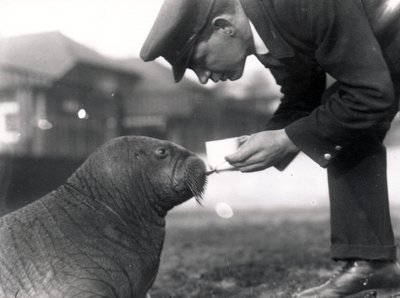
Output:
<instances>
[{"instance_id":1,"label":"man's bare hand holding a small white object before the walrus","mask_svg":"<svg viewBox=\"0 0 400 298\"><path fill-rule=\"evenodd\" d=\"M241 138L239 150L225 157L241 172L261 171L295 156L299 149L285 130L270 130Z\"/></svg>"}]
</instances>

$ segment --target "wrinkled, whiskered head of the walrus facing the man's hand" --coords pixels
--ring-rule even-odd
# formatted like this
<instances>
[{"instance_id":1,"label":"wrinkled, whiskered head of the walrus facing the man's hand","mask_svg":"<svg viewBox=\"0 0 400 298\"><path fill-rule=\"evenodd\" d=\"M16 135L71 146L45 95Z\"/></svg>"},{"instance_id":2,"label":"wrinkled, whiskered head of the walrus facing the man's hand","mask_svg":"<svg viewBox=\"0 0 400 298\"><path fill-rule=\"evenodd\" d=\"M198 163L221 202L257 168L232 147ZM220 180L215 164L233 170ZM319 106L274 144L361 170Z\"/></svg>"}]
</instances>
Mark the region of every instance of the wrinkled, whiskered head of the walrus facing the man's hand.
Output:
<instances>
[{"instance_id":1,"label":"wrinkled, whiskered head of the walrus facing the man's hand","mask_svg":"<svg viewBox=\"0 0 400 298\"><path fill-rule=\"evenodd\" d=\"M70 183L90 180L91 188L95 186L97 193L111 196L113 202L122 198L141 201L140 205L150 203L158 214L165 215L192 197L200 202L205 172L205 164L198 156L172 142L125 136L101 146L75 173L75 178L71 177L75 182Z\"/></svg>"}]
</instances>

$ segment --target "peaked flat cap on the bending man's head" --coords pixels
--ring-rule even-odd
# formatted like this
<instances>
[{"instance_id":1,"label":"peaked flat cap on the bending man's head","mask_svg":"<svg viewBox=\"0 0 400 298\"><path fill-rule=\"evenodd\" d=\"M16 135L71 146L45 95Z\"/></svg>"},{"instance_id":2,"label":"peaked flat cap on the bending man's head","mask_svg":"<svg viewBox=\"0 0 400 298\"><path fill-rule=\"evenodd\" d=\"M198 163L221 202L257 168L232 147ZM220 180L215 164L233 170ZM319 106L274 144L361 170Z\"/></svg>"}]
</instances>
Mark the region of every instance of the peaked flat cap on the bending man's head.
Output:
<instances>
[{"instance_id":1,"label":"peaked flat cap on the bending man's head","mask_svg":"<svg viewBox=\"0 0 400 298\"><path fill-rule=\"evenodd\" d=\"M193 45L216 0L165 0L140 51L143 61L164 57L176 82L185 74Z\"/></svg>"}]
</instances>

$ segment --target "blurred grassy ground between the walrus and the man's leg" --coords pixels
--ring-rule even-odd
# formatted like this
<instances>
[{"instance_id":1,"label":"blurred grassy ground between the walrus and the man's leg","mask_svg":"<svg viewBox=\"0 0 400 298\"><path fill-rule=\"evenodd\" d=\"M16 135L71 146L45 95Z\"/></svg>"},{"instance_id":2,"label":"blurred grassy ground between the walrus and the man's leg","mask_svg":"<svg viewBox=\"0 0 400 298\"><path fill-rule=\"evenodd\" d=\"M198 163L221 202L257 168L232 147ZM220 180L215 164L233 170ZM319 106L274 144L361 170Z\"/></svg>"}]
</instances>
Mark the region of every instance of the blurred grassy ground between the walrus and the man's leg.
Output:
<instances>
[{"instance_id":1,"label":"blurred grassy ground between the walrus and the man's leg","mask_svg":"<svg viewBox=\"0 0 400 298\"><path fill-rule=\"evenodd\" d=\"M400 232L399 217L393 224ZM174 212L167 216L151 295L290 297L339 266L329 258L327 210L242 211L229 220L206 211Z\"/></svg>"}]
</instances>

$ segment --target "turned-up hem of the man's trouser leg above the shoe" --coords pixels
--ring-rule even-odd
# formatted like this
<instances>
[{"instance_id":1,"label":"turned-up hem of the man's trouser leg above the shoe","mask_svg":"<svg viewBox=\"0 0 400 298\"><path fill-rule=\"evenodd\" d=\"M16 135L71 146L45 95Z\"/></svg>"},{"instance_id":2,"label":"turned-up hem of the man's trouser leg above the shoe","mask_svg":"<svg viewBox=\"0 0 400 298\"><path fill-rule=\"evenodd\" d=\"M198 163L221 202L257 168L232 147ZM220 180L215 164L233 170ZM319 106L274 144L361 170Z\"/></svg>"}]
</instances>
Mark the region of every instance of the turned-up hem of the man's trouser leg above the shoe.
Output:
<instances>
[{"instance_id":1,"label":"turned-up hem of the man's trouser leg above the shoe","mask_svg":"<svg viewBox=\"0 0 400 298\"><path fill-rule=\"evenodd\" d=\"M332 245L331 257L334 260L396 260L395 245Z\"/></svg>"}]
</instances>

